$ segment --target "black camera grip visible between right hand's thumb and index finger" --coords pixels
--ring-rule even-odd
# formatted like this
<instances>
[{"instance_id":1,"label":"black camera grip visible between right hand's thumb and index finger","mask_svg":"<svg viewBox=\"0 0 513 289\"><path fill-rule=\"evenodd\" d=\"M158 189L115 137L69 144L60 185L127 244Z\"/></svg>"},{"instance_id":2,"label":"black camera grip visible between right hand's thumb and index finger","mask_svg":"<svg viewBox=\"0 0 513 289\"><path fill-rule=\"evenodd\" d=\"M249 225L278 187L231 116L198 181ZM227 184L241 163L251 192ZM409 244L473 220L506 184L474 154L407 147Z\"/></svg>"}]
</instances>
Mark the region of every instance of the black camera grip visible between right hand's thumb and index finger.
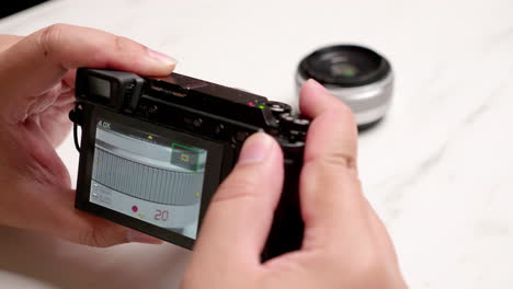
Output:
<instances>
[{"instance_id":1,"label":"black camera grip visible between right hand's thumb and index finger","mask_svg":"<svg viewBox=\"0 0 513 289\"><path fill-rule=\"evenodd\" d=\"M285 180L262 262L301 247L305 224L299 203L299 175L304 148L303 142L282 143Z\"/></svg>"}]
</instances>

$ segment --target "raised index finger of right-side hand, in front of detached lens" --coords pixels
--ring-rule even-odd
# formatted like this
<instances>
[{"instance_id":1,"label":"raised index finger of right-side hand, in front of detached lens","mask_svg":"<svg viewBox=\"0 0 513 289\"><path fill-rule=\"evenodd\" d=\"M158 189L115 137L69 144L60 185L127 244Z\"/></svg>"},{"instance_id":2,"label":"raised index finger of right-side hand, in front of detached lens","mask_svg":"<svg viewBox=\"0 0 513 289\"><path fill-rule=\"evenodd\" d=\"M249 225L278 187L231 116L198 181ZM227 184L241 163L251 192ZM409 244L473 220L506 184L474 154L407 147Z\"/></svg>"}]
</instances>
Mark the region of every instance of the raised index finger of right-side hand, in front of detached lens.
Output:
<instances>
[{"instance_id":1,"label":"raised index finger of right-side hand, in front of detached lens","mask_svg":"<svg viewBox=\"0 0 513 289\"><path fill-rule=\"evenodd\" d=\"M300 177L304 246L339 242L347 226L356 233L357 220L367 218L356 170L356 124L351 109L312 80L301 89L300 108L314 119Z\"/></svg>"}]
</instances>

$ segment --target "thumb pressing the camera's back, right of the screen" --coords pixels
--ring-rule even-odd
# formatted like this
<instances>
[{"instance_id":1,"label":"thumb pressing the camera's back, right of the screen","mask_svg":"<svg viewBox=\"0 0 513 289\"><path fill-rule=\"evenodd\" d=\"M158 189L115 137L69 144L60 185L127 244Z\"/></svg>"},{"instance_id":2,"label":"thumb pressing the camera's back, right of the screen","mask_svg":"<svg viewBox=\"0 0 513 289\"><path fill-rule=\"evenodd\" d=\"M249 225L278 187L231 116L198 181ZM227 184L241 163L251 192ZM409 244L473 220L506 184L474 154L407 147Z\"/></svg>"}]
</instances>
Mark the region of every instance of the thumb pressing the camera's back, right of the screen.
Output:
<instances>
[{"instance_id":1,"label":"thumb pressing the camera's back, right of the screen","mask_svg":"<svg viewBox=\"0 0 513 289\"><path fill-rule=\"evenodd\" d=\"M233 171L213 197L195 255L207 263L223 256L260 264L282 185L280 146L263 132L251 136Z\"/></svg>"}]
</instances>

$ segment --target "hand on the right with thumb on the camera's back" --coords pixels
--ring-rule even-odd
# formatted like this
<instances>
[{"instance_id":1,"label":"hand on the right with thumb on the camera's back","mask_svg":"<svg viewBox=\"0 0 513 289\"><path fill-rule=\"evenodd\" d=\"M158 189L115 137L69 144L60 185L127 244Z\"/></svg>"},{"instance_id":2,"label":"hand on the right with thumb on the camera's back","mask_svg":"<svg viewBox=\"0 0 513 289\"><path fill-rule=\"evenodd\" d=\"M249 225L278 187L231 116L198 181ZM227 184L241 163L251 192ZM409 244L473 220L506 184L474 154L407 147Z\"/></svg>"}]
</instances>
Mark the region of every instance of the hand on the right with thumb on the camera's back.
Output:
<instances>
[{"instance_id":1,"label":"hand on the right with thumb on the camera's back","mask_svg":"<svg viewBox=\"0 0 513 289\"><path fill-rule=\"evenodd\" d=\"M352 113L311 80L300 108L314 119L300 176L301 248L260 262L284 172L276 141L256 134L209 205L183 289L407 288L387 231L362 194Z\"/></svg>"}]
</instances>

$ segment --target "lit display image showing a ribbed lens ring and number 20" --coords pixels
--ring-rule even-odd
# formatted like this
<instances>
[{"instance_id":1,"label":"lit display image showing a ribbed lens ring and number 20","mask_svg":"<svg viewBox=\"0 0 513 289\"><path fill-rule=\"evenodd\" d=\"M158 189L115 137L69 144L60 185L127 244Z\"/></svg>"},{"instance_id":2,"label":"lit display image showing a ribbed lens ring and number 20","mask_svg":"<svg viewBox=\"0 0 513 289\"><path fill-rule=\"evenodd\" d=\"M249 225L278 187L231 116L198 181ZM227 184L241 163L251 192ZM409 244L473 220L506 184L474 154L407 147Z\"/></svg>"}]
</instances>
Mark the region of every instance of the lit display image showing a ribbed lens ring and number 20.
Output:
<instances>
[{"instance_id":1,"label":"lit display image showing a ribbed lens ring and number 20","mask_svg":"<svg viewBox=\"0 0 513 289\"><path fill-rule=\"evenodd\" d=\"M90 201L196 239L207 151L98 119Z\"/></svg>"}]
</instances>

